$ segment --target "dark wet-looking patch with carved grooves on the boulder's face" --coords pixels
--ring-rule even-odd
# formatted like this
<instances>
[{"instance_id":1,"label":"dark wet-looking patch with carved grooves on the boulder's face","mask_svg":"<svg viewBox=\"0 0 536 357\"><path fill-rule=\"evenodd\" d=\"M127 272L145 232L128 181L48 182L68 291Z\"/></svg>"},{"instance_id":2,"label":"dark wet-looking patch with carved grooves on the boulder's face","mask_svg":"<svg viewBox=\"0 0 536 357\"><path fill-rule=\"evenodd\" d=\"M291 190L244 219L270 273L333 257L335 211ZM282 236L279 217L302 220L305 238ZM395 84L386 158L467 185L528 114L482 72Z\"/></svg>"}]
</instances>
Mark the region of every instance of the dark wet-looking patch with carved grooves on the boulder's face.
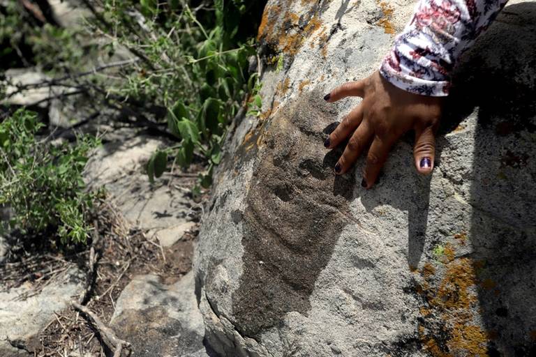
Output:
<instances>
[{"instance_id":1,"label":"dark wet-looking patch with carved grooves on the boulder's face","mask_svg":"<svg viewBox=\"0 0 536 357\"><path fill-rule=\"evenodd\" d=\"M243 218L244 274L232 296L234 324L247 336L276 326L287 312L308 313L318 275L352 220L355 182L334 179L324 159L322 116L336 112L321 98L289 103L261 134Z\"/></svg>"}]
</instances>

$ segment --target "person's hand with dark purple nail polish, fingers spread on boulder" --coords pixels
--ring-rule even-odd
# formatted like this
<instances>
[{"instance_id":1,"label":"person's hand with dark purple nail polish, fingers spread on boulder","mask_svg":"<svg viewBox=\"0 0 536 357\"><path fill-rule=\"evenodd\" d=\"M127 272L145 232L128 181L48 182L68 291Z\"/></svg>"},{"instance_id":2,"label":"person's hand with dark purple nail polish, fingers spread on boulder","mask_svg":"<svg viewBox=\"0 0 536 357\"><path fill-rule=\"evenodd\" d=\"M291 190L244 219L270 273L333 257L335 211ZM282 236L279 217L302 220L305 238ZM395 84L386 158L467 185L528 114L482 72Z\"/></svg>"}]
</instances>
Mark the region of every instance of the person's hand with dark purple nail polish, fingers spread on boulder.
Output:
<instances>
[{"instance_id":1,"label":"person's hand with dark purple nail polish, fingers spread on boulder","mask_svg":"<svg viewBox=\"0 0 536 357\"><path fill-rule=\"evenodd\" d=\"M343 155L335 165L336 174L347 172L370 144L361 185L371 188L389 150L410 129L415 130L413 155L417 172L432 172L434 133L439 125L441 97L421 96L399 89L387 82L378 71L366 79L338 86L324 99L336 102L349 96L362 97L363 101L345 116L324 143L332 149L349 138Z\"/></svg>"}]
</instances>

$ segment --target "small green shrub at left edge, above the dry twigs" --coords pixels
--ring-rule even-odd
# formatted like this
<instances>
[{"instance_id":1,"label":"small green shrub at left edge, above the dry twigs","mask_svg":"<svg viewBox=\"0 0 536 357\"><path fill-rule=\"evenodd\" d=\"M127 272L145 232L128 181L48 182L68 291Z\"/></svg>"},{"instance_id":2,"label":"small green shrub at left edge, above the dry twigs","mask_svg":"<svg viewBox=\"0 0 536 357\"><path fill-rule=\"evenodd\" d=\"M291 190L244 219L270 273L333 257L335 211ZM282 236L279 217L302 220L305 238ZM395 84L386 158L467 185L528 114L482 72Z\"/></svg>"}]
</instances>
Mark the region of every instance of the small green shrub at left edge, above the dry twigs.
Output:
<instances>
[{"instance_id":1,"label":"small green shrub at left edge, above the dry twigs","mask_svg":"<svg viewBox=\"0 0 536 357\"><path fill-rule=\"evenodd\" d=\"M82 171L98 141L52 145L36 134L36 114L19 109L0 123L0 205L13 210L4 229L39 234L57 229L62 243L85 243L92 194L85 192Z\"/></svg>"}]
</instances>

